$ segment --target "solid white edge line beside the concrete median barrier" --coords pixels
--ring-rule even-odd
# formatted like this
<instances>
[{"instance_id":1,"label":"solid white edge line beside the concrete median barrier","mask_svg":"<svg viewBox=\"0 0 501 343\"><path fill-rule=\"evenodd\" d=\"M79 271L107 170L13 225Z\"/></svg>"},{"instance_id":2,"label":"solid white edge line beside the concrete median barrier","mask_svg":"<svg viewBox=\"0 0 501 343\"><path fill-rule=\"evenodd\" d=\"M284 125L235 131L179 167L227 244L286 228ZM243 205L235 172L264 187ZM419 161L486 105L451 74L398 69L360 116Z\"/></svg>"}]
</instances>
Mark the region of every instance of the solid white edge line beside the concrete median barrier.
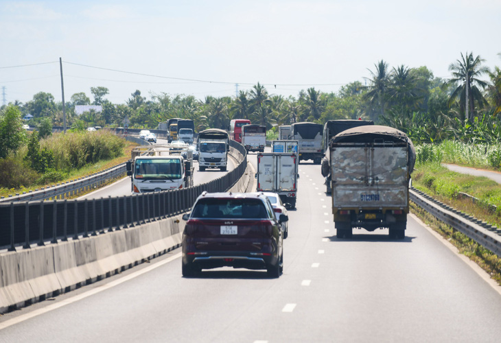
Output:
<instances>
[{"instance_id":1,"label":"solid white edge line beside the concrete median barrier","mask_svg":"<svg viewBox=\"0 0 501 343\"><path fill-rule=\"evenodd\" d=\"M115 281L111 281L110 283L100 285L98 287L95 287L95 288L87 291L87 292L84 292L82 294L78 294L77 296L73 296L73 297L68 298L66 300L61 300L60 302L58 302L54 305L49 305L47 307L43 307L42 309L36 309L36 310L30 312L29 314L23 314L22 316L12 318L10 320L5 320L5 322L0 323L0 330L11 327L12 325L15 325L15 324L19 324L20 322L24 322L25 320L34 318L36 316L39 316L40 314L46 314L49 311L52 311L54 309L58 309L58 308L63 307L65 305L76 303L77 301L82 300L84 298L87 298L88 296L93 296L94 294L105 291L106 289L110 289L112 287L120 285L121 283L124 283L126 281L131 280L131 279L134 279L137 276L141 276L142 274L145 274L145 273L150 272L156 268L159 268L164 264L172 262L175 259L178 259L179 257L181 257L182 254L183 254L182 252L178 252L176 255L169 257L169 258L167 258L159 263L154 263L153 265L150 265L146 268L138 270L137 272L133 272L132 274L128 274L127 276L124 276L124 277L117 279Z\"/></svg>"}]
</instances>

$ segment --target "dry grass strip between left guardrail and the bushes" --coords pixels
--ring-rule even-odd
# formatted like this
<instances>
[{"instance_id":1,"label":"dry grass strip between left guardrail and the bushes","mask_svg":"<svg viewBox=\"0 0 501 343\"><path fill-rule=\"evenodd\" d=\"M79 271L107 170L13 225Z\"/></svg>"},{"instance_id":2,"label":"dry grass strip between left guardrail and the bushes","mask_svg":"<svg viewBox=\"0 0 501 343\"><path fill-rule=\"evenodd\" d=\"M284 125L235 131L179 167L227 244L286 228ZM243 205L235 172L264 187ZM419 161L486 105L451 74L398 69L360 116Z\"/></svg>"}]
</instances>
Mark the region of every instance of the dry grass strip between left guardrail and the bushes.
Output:
<instances>
[{"instance_id":1,"label":"dry grass strip between left guardrail and the bushes","mask_svg":"<svg viewBox=\"0 0 501 343\"><path fill-rule=\"evenodd\" d=\"M85 176L89 176L91 174L98 173L100 171L104 171L105 169L115 167L115 165L119 165L121 163L125 163L126 161L130 160L130 152L132 151L132 148L137 146L137 143L133 143L130 141L126 141L126 145L124 147L124 152L122 156L119 156L117 158L112 158L109 160L103 160L99 161L97 163L93 163L90 165L85 165L84 167L80 169L74 169L67 174L67 177L65 180L58 181L57 183L61 184L63 182L68 182L71 180L76 180L78 178L84 178ZM104 185L108 185L110 183L115 182L115 180L110 180L109 182L106 182ZM6 189L6 188L0 188L0 196L4 196L7 198L9 195L15 196L16 194L22 194L23 192L28 192L28 191L34 191L35 189L41 189L42 187L51 187L54 186L54 183L48 183L48 184L40 184L40 185L33 185L30 187L21 187L19 189ZM90 191L89 191L90 192ZM86 193L89 193L86 192ZM82 196L85 193L78 193L78 196Z\"/></svg>"}]
</instances>

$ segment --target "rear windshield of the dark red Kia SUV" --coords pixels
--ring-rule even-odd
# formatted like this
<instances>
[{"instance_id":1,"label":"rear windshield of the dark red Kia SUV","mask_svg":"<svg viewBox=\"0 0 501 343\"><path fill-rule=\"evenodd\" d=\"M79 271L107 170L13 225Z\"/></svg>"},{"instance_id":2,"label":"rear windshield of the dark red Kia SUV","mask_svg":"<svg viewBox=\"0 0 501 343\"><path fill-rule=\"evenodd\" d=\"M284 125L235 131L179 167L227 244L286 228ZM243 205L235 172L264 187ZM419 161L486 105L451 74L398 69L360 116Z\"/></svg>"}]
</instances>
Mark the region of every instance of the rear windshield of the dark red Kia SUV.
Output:
<instances>
[{"instance_id":1,"label":"rear windshield of the dark red Kia SUV","mask_svg":"<svg viewBox=\"0 0 501 343\"><path fill-rule=\"evenodd\" d=\"M270 213L259 199L199 200L191 213L194 218L270 219Z\"/></svg>"}]
</instances>

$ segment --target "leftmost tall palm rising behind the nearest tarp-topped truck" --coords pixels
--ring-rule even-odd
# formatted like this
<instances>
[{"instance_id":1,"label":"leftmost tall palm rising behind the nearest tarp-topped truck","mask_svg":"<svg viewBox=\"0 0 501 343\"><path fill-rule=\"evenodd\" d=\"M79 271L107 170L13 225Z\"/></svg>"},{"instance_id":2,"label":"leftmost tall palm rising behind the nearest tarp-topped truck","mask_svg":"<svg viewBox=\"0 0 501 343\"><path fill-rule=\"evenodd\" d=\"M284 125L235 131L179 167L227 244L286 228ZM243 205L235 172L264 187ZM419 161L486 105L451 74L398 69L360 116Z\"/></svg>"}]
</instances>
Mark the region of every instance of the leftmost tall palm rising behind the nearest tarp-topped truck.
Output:
<instances>
[{"instance_id":1,"label":"leftmost tall palm rising behind the nearest tarp-topped truck","mask_svg":"<svg viewBox=\"0 0 501 343\"><path fill-rule=\"evenodd\" d=\"M372 113L369 113L369 117L373 121L376 121L379 115L384 115L384 110L387 103L386 91L388 90L388 84L390 82L390 75L388 73L388 64L384 60L380 60L377 64L374 64L375 72L369 70L371 73L371 78L365 78L371 85L368 87L369 90L364 94L364 99L369 101L370 109Z\"/></svg>"}]
</instances>

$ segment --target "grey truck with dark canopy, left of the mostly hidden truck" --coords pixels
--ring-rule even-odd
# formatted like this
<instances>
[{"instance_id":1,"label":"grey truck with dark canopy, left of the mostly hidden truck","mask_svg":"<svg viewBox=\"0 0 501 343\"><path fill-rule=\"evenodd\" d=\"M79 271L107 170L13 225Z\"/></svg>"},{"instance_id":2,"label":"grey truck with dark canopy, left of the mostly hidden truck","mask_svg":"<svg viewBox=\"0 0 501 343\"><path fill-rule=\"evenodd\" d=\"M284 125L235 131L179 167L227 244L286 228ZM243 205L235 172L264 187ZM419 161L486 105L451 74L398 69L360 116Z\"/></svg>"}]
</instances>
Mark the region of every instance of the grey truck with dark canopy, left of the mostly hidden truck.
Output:
<instances>
[{"instance_id":1,"label":"grey truck with dark canopy, left of the mostly hidden truck","mask_svg":"<svg viewBox=\"0 0 501 343\"><path fill-rule=\"evenodd\" d=\"M293 123L290 126L291 139L298 141L299 161L313 160L321 164L323 126L317 123Z\"/></svg>"}]
</instances>

